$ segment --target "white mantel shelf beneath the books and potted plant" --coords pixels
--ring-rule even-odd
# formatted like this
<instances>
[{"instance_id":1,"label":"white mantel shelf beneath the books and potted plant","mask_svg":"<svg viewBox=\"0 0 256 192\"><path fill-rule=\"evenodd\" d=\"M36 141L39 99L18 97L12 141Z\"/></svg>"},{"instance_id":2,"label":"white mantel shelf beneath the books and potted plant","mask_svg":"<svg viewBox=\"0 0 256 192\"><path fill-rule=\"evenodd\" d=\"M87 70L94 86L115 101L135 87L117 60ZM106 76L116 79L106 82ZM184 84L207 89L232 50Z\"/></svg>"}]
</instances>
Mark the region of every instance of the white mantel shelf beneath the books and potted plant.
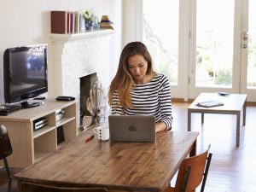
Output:
<instances>
[{"instance_id":1,"label":"white mantel shelf beneath the books and potted plant","mask_svg":"<svg viewBox=\"0 0 256 192\"><path fill-rule=\"evenodd\" d=\"M81 33L71 33L71 34L50 33L49 38L51 39L52 42L67 42L67 41L76 41L84 38L95 38L95 37L100 37L104 35L110 35L113 33L114 33L113 29L102 29L102 30L91 31L91 32L81 32Z\"/></svg>"}]
</instances>

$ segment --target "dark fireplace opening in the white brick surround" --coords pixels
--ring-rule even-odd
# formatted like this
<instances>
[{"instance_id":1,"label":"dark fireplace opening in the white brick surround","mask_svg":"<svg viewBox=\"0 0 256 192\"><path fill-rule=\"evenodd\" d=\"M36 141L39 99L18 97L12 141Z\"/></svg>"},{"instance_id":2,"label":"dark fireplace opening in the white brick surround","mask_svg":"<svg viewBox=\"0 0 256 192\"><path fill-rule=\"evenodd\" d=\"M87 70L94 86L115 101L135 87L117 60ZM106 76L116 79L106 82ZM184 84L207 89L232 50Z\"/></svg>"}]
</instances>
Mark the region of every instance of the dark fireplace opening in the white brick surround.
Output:
<instances>
[{"instance_id":1,"label":"dark fireplace opening in the white brick surround","mask_svg":"<svg viewBox=\"0 0 256 192\"><path fill-rule=\"evenodd\" d=\"M79 128L80 130L84 130L83 128L83 118L84 116L90 116L90 112L86 108L87 98L90 96L90 90L93 84L97 81L96 73L91 73L80 78L80 121Z\"/></svg>"}]
</instances>

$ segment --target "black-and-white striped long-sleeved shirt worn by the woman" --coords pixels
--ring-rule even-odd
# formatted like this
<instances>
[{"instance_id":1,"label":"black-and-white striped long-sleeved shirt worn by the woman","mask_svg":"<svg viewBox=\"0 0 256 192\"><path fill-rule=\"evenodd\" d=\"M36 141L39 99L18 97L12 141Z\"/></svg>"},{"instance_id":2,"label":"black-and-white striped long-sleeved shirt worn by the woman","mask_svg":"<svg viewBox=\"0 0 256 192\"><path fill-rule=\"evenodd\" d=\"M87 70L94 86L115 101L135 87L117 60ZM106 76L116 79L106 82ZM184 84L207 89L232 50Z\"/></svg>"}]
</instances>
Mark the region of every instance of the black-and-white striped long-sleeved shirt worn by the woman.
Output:
<instances>
[{"instance_id":1,"label":"black-and-white striped long-sleeved shirt worn by the woman","mask_svg":"<svg viewBox=\"0 0 256 192\"><path fill-rule=\"evenodd\" d=\"M147 84L136 84L131 91L132 108L120 106L118 91L113 93L113 115L154 115L155 123L164 122L172 128L171 89L166 76L156 73Z\"/></svg>"}]
</instances>

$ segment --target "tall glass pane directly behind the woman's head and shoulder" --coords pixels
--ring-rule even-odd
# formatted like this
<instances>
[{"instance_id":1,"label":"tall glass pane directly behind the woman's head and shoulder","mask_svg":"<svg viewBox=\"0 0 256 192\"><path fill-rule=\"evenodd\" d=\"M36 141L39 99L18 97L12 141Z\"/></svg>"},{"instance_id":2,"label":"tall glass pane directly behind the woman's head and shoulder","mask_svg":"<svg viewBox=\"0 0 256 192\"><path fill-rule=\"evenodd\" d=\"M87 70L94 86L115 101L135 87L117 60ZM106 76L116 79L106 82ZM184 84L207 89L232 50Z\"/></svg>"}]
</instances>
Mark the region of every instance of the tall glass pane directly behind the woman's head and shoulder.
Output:
<instances>
[{"instance_id":1,"label":"tall glass pane directly behind the woman's head and shoulder","mask_svg":"<svg viewBox=\"0 0 256 192\"><path fill-rule=\"evenodd\" d=\"M143 43L153 57L154 71L169 79L173 97L183 91L178 68L179 2L143 0Z\"/></svg>"}]
</instances>

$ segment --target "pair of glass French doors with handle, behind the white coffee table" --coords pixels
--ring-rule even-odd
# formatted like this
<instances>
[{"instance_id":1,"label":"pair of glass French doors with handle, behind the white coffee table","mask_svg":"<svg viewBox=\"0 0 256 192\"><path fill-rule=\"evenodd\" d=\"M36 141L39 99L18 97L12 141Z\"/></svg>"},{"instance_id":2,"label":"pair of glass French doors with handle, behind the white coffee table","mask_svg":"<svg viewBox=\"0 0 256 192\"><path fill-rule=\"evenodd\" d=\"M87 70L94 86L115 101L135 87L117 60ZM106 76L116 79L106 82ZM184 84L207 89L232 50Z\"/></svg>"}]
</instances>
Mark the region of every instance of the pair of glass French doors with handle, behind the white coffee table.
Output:
<instances>
[{"instance_id":1,"label":"pair of glass French doors with handle, behind the white coffee table","mask_svg":"<svg viewBox=\"0 0 256 192\"><path fill-rule=\"evenodd\" d=\"M192 0L189 98L246 93L256 102L256 1Z\"/></svg>"}]
</instances>

